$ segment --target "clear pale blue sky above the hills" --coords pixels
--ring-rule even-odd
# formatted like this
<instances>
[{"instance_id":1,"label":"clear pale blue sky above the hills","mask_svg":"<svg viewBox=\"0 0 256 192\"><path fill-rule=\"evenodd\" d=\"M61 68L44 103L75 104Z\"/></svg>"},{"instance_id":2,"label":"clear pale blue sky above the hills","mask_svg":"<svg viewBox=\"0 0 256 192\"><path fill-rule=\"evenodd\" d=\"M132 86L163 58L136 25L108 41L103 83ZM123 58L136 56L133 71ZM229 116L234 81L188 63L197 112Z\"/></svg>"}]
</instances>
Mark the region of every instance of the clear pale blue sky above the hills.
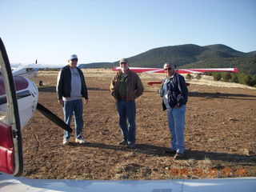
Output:
<instances>
[{"instance_id":1,"label":"clear pale blue sky above the hills","mask_svg":"<svg viewBox=\"0 0 256 192\"><path fill-rule=\"evenodd\" d=\"M256 50L256 0L0 0L11 63L116 62L161 46Z\"/></svg>"}]
</instances>

